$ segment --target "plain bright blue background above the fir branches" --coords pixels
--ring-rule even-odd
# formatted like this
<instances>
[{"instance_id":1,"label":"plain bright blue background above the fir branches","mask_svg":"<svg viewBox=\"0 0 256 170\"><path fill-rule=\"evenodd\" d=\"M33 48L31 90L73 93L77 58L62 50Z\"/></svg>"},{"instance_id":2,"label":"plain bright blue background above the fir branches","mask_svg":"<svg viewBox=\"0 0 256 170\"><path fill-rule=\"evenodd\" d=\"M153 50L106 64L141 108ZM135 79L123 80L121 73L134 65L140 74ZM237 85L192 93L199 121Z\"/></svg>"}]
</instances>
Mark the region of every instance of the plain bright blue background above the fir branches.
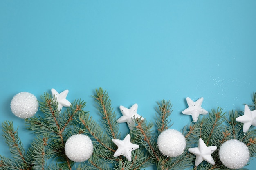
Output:
<instances>
[{"instance_id":1,"label":"plain bright blue background above the fir branches","mask_svg":"<svg viewBox=\"0 0 256 170\"><path fill-rule=\"evenodd\" d=\"M156 102L171 100L177 130L192 121L181 113L186 97L204 97L208 111L243 110L256 91L255 9L254 0L1 0L0 122L19 126L28 148L33 135L11 113L11 99L19 92L40 99L52 88L68 89L70 102L85 100L92 115L99 87L118 117L120 105L137 103L154 121ZM10 155L2 136L0 145Z\"/></svg>"}]
</instances>

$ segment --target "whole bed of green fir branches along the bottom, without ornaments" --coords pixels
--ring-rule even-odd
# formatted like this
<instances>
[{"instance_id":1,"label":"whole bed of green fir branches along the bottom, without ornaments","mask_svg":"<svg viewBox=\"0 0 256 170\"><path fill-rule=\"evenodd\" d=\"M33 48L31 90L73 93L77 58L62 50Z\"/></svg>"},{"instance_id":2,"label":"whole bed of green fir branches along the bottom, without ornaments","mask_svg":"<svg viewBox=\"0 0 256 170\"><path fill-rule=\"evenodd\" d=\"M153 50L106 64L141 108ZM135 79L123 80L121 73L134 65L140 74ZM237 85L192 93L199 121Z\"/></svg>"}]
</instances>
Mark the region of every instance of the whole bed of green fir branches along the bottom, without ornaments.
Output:
<instances>
[{"instance_id":1,"label":"whole bed of green fir branches along the bottom, without ornaments","mask_svg":"<svg viewBox=\"0 0 256 170\"><path fill-rule=\"evenodd\" d=\"M256 156L256 129L250 128L244 133L243 124L236 121L243 112L223 113L219 107L212 109L208 116L200 116L197 122L184 126L182 133L186 139L186 148L182 155L162 155L157 147L157 137L171 127L170 116L173 111L171 102L162 100L157 102L155 124L142 117L134 118L136 126L130 131L131 142L140 147L132 151L132 161L123 156L114 157L117 146L112 139L121 138L117 115L106 90L96 89L92 97L101 116L101 124L85 111L86 103L83 100L75 100L71 107L59 111L54 96L48 93L41 96L40 112L25 120L27 129L36 134L27 152L13 123L2 123L3 137L10 148L12 159L0 155L0 170L139 170L150 164L155 164L157 170L185 169L195 163L195 155L189 153L188 149L197 147L199 138L207 146L217 146L218 149L225 141L237 139L248 146L251 157ZM251 110L256 108L256 93L249 107ZM71 135L79 133L90 137L94 150L87 161L74 163L65 155L64 146ZM228 169L220 162L218 149L211 154L215 165L203 161L193 166L193 169Z\"/></svg>"}]
</instances>

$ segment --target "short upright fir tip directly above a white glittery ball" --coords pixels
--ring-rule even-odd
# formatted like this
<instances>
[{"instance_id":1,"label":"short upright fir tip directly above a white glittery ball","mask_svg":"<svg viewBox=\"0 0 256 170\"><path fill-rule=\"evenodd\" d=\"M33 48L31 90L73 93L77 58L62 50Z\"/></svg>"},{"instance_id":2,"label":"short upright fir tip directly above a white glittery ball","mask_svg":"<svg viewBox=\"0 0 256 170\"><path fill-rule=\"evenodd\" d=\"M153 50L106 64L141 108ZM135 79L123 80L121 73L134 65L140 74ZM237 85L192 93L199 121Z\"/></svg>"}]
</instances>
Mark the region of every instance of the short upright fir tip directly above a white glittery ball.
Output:
<instances>
[{"instance_id":1,"label":"short upright fir tip directly above a white glittery ball","mask_svg":"<svg viewBox=\"0 0 256 170\"><path fill-rule=\"evenodd\" d=\"M158 135L170 128L172 126L169 125L169 123L171 122L171 119L169 119L169 116L171 115L172 111L172 105L170 101L167 100L162 100L161 104L159 102L157 102L158 108L157 108L157 114L156 114L156 125L157 125L157 131L158 131Z\"/></svg>"}]
</instances>

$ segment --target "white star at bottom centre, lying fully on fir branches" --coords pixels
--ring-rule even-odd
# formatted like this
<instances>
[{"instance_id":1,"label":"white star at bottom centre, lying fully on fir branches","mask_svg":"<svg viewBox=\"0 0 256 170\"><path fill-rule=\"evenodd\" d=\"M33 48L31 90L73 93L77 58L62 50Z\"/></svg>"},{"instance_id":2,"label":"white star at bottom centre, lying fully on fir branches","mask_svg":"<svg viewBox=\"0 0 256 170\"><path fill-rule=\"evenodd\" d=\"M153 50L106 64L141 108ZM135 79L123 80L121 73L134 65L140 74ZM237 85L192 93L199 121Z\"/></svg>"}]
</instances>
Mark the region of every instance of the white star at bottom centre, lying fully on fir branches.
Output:
<instances>
[{"instance_id":1,"label":"white star at bottom centre, lying fully on fir branches","mask_svg":"<svg viewBox=\"0 0 256 170\"><path fill-rule=\"evenodd\" d=\"M112 141L117 145L118 149L114 153L114 157L124 155L128 161L132 160L132 150L139 148L139 145L132 144L130 142L130 134L126 135L124 140L112 139Z\"/></svg>"}]
</instances>

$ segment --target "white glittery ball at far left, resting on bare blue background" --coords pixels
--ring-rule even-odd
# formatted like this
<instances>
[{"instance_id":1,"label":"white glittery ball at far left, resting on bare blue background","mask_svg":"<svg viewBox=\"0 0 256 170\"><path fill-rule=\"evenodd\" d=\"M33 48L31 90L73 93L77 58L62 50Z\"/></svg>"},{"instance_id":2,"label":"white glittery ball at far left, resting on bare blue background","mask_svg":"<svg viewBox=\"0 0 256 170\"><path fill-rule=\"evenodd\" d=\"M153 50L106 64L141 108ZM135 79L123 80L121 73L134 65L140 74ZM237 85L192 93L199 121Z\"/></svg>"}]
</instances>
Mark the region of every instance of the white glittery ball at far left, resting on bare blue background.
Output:
<instances>
[{"instance_id":1,"label":"white glittery ball at far left, resting on bare blue background","mask_svg":"<svg viewBox=\"0 0 256 170\"><path fill-rule=\"evenodd\" d=\"M19 118L30 118L38 111L38 101L34 94L20 92L11 100L11 112Z\"/></svg>"}]
</instances>

